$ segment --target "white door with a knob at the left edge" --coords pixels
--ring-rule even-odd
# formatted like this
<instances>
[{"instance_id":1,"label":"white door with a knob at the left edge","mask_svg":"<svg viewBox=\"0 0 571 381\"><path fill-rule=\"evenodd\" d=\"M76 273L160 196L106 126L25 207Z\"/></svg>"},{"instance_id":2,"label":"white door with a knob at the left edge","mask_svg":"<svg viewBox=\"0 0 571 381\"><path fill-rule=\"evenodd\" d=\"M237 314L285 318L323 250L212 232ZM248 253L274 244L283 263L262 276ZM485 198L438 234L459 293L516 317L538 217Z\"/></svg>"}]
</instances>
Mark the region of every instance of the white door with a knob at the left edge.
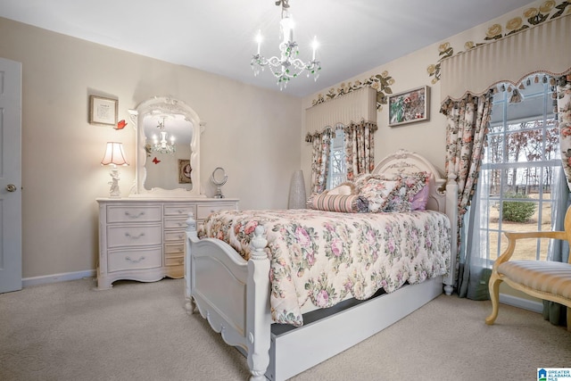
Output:
<instances>
[{"instance_id":1,"label":"white door with a knob at the left edge","mask_svg":"<svg viewBox=\"0 0 571 381\"><path fill-rule=\"evenodd\" d=\"M21 290L21 63L0 58L0 294Z\"/></svg>"}]
</instances>

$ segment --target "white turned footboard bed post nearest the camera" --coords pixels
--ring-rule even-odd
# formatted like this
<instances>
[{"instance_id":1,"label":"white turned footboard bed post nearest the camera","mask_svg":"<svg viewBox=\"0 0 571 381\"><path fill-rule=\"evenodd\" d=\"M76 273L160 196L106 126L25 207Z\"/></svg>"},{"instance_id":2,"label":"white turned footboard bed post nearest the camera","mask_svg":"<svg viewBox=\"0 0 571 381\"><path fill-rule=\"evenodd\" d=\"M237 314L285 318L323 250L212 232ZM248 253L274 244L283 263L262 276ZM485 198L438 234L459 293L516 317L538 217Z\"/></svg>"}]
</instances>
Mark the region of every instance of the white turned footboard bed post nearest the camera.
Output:
<instances>
[{"instance_id":1,"label":"white turned footboard bed post nearest the camera","mask_svg":"<svg viewBox=\"0 0 571 381\"><path fill-rule=\"evenodd\" d=\"M269 258L264 250L268 241L258 226L252 237L246 291L246 344L251 381L266 380L269 366L271 314L269 312Z\"/></svg>"}]
</instances>

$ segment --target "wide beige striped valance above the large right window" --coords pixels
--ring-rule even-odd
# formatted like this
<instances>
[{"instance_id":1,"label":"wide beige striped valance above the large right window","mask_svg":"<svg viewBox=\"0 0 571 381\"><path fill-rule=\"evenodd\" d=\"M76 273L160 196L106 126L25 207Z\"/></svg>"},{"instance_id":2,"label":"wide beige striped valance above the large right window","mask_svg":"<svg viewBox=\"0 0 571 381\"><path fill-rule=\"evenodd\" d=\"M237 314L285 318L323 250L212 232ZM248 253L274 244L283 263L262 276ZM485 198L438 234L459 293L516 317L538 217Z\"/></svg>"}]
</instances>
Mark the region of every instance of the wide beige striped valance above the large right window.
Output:
<instances>
[{"instance_id":1,"label":"wide beige striped valance above the large right window","mask_svg":"<svg viewBox=\"0 0 571 381\"><path fill-rule=\"evenodd\" d=\"M535 72L559 76L571 69L571 15L545 21L467 52L444 59L441 101L484 95L501 82L516 85Z\"/></svg>"}]
</instances>

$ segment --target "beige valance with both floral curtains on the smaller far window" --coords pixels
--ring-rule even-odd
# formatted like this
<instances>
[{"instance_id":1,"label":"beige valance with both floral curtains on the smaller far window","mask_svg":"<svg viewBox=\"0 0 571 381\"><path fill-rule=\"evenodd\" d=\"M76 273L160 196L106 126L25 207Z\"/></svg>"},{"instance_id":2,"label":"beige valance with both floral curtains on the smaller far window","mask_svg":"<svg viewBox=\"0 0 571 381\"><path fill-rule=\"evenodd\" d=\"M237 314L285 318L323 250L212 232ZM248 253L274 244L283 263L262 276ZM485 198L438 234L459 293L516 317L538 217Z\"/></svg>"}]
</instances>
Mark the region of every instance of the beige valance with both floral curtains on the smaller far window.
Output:
<instances>
[{"instance_id":1,"label":"beige valance with both floral curtains on the smaller far window","mask_svg":"<svg viewBox=\"0 0 571 381\"><path fill-rule=\"evenodd\" d=\"M375 167L374 132L377 130L377 90L362 87L305 111L307 134L312 145L311 193L327 186L331 137L338 125L345 134L347 178L368 173Z\"/></svg>"}]
</instances>

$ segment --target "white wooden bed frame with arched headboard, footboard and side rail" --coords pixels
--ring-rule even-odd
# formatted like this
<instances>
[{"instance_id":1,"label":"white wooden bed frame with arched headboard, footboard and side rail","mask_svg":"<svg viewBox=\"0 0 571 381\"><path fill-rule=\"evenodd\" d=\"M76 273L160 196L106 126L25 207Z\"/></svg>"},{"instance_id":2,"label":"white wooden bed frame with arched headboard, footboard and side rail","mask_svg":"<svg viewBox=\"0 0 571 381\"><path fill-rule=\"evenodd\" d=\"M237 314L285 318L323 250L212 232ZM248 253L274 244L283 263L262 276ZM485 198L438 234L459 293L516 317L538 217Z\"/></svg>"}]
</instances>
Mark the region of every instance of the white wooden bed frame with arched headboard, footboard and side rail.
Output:
<instances>
[{"instance_id":1,"label":"white wooden bed frame with arched headboard, footboard and side rail","mask_svg":"<svg viewBox=\"0 0 571 381\"><path fill-rule=\"evenodd\" d=\"M196 223L186 228L185 294L188 314L196 309L224 341L247 357L251 380L284 380L335 356L418 310L426 302L451 294L456 258L458 186L417 153L400 150L377 164L373 173L429 171L427 210L446 213L451 221L451 267L443 277L405 285L366 301L355 299L303 315L304 325L272 324L269 307L270 262L263 228L252 237L244 261L218 239L198 239Z\"/></svg>"}]
</instances>

